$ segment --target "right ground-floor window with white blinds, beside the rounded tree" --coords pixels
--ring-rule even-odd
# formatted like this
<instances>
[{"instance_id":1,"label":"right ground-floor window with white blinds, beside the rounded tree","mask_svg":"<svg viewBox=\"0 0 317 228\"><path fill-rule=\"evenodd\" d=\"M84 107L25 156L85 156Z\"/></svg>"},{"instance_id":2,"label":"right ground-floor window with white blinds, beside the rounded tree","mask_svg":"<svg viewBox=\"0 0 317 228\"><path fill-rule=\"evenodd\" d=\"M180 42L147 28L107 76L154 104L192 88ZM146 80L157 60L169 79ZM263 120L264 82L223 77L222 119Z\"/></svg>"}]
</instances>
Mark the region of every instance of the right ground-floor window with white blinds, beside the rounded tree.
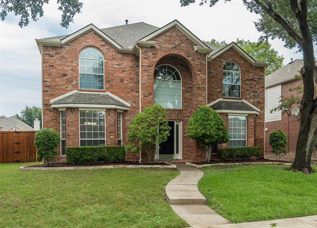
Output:
<instances>
[{"instance_id":1,"label":"right ground-floor window with white blinds, beside the rounded tree","mask_svg":"<svg viewBox=\"0 0 317 228\"><path fill-rule=\"evenodd\" d=\"M229 147L244 147L247 140L247 117L229 116Z\"/></svg>"}]
</instances>

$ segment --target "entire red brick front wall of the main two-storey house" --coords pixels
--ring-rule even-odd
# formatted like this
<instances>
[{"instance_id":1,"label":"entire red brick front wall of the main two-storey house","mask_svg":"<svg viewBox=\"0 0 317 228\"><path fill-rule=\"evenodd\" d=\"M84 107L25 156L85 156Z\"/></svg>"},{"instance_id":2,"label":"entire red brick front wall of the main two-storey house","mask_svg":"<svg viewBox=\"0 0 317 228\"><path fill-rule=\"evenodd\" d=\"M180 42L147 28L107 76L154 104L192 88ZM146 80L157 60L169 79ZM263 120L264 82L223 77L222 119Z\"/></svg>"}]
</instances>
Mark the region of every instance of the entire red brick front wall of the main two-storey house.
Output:
<instances>
[{"instance_id":1,"label":"entire red brick front wall of the main two-storey house","mask_svg":"<svg viewBox=\"0 0 317 228\"><path fill-rule=\"evenodd\" d=\"M196 44L176 27L165 31L153 40L156 42L155 47L141 47L141 107L152 105L154 102L153 72L155 67L163 63L174 65L182 76L182 109L168 109L167 118L183 121L183 159L205 160L204 147L186 136L186 126L193 111L197 107L206 105L206 55L195 52ZM93 31L74 39L61 48L43 47L43 127L60 130L59 112L50 106L50 99L72 90L82 90L79 89L78 55L86 46L100 49L105 57L105 89L90 91L108 91L131 104L130 109L122 114L122 141L126 145L129 123L139 112L139 57L120 53ZM256 117L255 123L251 121L250 124L253 125L250 126L248 123L248 140L250 143L254 140L254 143L251 144L262 146L263 70L255 69L233 49L218 56L208 63L208 103L222 97L222 68L229 59L238 62L242 69L242 99L246 99L261 109L260 116ZM66 146L79 145L78 114L78 108L67 108L66 110ZM223 115L223 118L226 119L227 116ZM254 117L251 115L250 119L252 118ZM254 128L255 130L252 130ZM262 132L259 129L262 129ZM251 139L253 131L256 132L255 139ZM117 134L117 111L106 110L107 145L117 145ZM139 154L127 154L126 159L138 160ZM142 159L146 160L145 154Z\"/></svg>"}]
</instances>

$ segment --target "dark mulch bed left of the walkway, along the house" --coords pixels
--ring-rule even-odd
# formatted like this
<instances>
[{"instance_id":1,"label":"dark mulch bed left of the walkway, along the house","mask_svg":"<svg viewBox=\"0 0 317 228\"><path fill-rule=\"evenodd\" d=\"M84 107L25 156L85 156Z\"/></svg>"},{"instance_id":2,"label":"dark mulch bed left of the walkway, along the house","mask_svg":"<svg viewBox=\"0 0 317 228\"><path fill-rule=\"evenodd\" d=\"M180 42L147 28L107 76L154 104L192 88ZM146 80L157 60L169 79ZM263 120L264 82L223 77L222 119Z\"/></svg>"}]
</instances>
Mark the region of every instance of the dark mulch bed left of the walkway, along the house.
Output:
<instances>
[{"instance_id":1,"label":"dark mulch bed left of the walkway, along the house","mask_svg":"<svg viewBox=\"0 0 317 228\"><path fill-rule=\"evenodd\" d=\"M137 166L148 166L148 165L164 165L164 166L170 166L166 163L139 163L138 161L122 161L122 162L92 162L90 164L84 164L84 165L71 165L67 164L66 162L58 162L58 163L51 163L49 166L44 165L32 165L27 166L28 168L43 168L43 167L78 167L78 166L114 166L114 165L137 165Z\"/></svg>"}]
</instances>

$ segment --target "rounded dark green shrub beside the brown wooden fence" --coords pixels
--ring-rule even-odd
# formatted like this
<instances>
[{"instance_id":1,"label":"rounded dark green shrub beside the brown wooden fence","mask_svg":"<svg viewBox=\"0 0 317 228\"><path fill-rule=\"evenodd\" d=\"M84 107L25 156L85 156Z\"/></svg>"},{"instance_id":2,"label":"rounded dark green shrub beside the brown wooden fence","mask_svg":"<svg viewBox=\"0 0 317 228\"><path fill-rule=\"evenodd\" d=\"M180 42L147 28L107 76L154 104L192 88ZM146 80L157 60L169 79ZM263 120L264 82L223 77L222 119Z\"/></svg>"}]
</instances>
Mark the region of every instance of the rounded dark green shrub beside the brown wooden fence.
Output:
<instances>
[{"instance_id":1,"label":"rounded dark green shrub beside the brown wooden fence","mask_svg":"<svg viewBox=\"0 0 317 228\"><path fill-rule=\"evenodd\" d=\"M37 156L43 158L45 166L49 166L50 160L57 156L60 141L60 135L54 129L43 128L36 132L34 143Z\"/></svg>"}]
</instances>

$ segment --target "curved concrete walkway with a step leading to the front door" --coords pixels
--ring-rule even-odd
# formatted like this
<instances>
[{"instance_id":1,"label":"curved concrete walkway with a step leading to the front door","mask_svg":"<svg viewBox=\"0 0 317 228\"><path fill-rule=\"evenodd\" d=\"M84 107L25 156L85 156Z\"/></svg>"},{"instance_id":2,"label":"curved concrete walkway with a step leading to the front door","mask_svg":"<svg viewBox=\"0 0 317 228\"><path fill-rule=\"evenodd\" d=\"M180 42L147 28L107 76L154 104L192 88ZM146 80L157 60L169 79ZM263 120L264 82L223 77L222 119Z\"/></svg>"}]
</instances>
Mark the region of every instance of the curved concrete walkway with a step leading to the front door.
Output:
<instances>
[{"instance_id":1,"label":"curved concrete walkway with a step leading to the front door","mask_svg":"<svg viewBox=\"0 0 317 228\"><path fill-rule=\"evenodd\" d=\"M172 179L165 192L173 210L191 227L230 224L206 205L206 198L198 190L204 173L192 166L177 164L180 175Z\"/></svg>"}]
</instances>

